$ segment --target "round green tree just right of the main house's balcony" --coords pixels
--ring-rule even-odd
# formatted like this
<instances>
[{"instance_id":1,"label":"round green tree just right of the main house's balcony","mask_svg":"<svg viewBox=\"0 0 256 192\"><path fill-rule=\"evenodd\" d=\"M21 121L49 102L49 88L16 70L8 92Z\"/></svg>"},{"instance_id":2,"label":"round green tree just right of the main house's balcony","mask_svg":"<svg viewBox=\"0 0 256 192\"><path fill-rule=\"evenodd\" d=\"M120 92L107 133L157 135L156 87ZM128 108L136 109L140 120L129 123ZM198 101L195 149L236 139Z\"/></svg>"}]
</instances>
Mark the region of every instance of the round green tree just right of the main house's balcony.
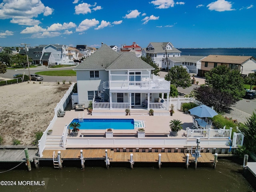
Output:
<instances>
[{"instance_id":1,"label":"round green tree just right of the main house's balcony","mask_svg":"<svg viewBox=\"0 0 256 192\"><path fill-rule=\"evenodd\" d=\"M165 76L165 80L170 81L176 87L186 88L191 86L190 75L182 66L170 68L169 73Z\"/></svg>"}]
</instances>

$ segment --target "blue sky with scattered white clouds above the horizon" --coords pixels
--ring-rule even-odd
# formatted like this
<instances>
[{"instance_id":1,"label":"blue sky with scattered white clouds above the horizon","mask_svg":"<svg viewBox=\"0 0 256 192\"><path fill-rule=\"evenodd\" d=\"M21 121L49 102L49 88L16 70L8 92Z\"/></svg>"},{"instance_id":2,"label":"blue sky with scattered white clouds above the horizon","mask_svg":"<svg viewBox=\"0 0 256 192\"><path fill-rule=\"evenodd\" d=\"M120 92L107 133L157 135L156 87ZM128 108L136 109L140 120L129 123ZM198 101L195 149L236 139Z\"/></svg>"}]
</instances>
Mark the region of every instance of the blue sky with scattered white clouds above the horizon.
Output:
<instances>
[{"instance_id":1,"label":"blue sky with scattered white clouds above the horizon","mask_svg":"<svg viewBox=\"0 0 256 192\"><path fill-rule=\"evenodd\" d=\"M0 0L0 47L256 47L255 13L255 0Z\"/></svg>"}]
</instances>

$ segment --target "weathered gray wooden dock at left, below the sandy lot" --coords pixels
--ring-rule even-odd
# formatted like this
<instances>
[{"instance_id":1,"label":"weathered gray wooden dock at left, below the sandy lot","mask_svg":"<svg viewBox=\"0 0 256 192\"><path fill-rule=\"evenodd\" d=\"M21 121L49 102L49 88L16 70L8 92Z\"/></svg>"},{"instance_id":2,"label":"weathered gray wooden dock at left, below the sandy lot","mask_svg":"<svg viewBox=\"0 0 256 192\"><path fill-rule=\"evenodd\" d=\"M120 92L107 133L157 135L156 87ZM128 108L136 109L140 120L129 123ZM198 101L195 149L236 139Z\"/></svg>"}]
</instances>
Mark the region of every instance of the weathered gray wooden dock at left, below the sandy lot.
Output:
<instances>
[{"instance_id":1,"label":"weathered gray wooden dock at left, below the sandy lot","mask_svg":"<svg viewBox=\"0 0 256 192\"><path fill-rule=\"evenodd\" d=\"M23 162L26 161L24 149L28 148L28 155L30 162L33 158L38 158L37 146L1 146L0 148L0 162Z\"/></svg>"}]
</instances>

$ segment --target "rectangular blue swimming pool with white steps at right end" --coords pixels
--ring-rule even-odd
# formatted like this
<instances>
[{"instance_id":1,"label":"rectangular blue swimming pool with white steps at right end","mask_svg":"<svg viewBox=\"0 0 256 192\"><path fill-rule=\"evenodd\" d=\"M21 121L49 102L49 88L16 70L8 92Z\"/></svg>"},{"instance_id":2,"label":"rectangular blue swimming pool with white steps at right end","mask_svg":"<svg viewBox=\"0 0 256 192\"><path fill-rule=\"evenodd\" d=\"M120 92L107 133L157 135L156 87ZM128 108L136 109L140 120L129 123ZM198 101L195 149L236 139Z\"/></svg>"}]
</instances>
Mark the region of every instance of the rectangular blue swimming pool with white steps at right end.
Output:
<instances>
[{"instance_id":1,"label":"rectangular blue swimming pool with white steps at right end","mask_svg":"<svg viewBox=\"0 0 256 192\"><path fill-rule=\"evenodd\" d=\"M144 121L134 119L83 119L78 118L72 120L72 122L79 122L81 124L81 130L133 130L134 128L144 128ZM71 123L71 122L70 122Z\"/></svg>"}]
</instances>

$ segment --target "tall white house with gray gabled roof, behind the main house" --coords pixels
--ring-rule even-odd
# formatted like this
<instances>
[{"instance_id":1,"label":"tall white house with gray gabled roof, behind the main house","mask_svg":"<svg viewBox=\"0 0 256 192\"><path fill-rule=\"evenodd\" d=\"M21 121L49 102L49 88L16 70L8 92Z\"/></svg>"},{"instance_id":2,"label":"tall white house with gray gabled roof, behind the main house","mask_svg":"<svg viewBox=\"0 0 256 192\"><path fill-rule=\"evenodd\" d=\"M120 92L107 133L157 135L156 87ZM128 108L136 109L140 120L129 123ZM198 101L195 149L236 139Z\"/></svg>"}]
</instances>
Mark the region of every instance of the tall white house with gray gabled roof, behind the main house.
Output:
<instances>
[{"instance_id":1,"label":"tall white house with gray gabled roof, behind the main house","mask_svg":"<svg viewBox=\"0 0 256 192\"><path fill-rule=\"evenodd\" d=\"M150 42L142 49L142 57L150 56L158 68L163 70L172 68L170 58L179 57L180 53L170 42Z\"/></svg>"}]
</instances>

